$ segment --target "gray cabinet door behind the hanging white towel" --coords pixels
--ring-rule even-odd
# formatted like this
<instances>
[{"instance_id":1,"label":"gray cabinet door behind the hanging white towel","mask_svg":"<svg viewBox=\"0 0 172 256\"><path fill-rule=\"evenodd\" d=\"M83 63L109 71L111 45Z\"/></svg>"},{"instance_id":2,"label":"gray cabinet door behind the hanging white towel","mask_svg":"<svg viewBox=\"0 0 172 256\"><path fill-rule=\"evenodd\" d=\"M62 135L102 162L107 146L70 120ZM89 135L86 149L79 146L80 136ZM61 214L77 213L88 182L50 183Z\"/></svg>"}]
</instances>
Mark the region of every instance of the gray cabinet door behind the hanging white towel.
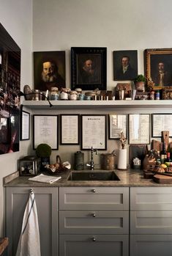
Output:
<instances>
[{"instance_id":1,"label":"gray cabinet door behind the hanging white towel","mask_svg":"<svg viewBox=\"0 0 172 256\"><path fill-rule=\"evenodd\" d=\"M23 213L31 188L6 188L6 235L8 255L15 255L23 222ZM42 256L58 255L58 191L56 188L34 188L40 227Z\"/></svg>"}]
</instances>

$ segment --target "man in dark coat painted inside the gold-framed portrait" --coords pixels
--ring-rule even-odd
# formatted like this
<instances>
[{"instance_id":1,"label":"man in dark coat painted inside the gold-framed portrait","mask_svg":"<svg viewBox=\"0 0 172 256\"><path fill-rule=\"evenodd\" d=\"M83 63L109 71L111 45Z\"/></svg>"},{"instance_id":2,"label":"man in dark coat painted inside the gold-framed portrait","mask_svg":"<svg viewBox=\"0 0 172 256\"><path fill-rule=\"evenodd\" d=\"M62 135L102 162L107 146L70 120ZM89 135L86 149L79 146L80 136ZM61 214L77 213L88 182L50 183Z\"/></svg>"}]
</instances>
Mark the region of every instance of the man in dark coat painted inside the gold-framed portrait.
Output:
<instances>
[{"instance_id":1,"label":"man in dark coat painted inside the gold-framed portrait","mask_svg":"<svg viewBox=\"0 0 172 256\"><path fill-rule=\"evenodd\" d=\"M154 81L155 86L164 87L172 85L172 76L168 70L165 69L165 62L157 63L157 72L152 75L152 80Z\"/></svg>"}]
</instances>

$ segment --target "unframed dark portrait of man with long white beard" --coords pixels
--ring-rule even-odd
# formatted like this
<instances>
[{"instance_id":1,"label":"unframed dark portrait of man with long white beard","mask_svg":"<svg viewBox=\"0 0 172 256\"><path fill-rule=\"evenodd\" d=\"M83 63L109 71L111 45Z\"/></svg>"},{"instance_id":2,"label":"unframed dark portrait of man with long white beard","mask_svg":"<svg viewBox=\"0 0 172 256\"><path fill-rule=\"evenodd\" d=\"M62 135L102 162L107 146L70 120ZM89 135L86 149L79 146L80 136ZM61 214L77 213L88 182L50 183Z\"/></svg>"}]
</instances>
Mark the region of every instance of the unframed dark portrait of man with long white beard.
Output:
<instances>
[{"instance_id":1,"label":"unframed dark portrait of man with long white beard","mask_svg":"<svg viewBox=\"0 0 172 256\"><path fill-rule=\"evenodd\" d=\"M65 87L65 51L34 52L34 89Z\"/></svg>"}]
</instances>

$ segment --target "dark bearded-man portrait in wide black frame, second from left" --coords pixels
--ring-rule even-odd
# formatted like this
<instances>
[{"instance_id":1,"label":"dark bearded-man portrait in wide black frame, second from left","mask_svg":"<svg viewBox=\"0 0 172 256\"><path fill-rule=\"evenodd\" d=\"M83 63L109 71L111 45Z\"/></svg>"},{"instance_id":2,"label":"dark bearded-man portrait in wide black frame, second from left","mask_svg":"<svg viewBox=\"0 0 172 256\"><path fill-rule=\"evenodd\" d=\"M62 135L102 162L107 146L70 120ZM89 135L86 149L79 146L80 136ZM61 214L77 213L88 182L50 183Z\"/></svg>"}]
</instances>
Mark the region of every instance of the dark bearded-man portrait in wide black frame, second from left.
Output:
<instances>
[{"instance_id":1,"label":"dark bearded-man portrait in wide black frame, second from left","mask_svg":"<svg viewBox=\"0 0 172 256\"><path fill-rule=\"evenodd\" d=\"M72 89L106 89L107 48L71 48Z\"/></svg>"}]
</instances>

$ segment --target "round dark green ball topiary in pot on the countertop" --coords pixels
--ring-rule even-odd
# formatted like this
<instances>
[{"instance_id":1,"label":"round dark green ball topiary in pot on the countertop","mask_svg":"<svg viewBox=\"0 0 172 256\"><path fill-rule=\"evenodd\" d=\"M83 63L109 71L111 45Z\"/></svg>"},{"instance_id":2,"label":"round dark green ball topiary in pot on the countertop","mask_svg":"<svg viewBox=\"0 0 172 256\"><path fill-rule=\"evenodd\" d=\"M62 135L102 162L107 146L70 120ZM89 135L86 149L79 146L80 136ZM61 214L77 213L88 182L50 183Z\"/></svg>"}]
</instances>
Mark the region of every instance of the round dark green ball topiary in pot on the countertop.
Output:
<instances>
[{"instance_id":1,"label":"round dark green ball topiary in pot on the countertop","mask_svg":"<svg viewBox=\"0 0 172 256\"><path fill-rule=\"evenodd\" d=\"M37 146L36 154L41 159L41 171L45 171L45 165L50 164L51 146L41 143Z\"/></svg>"}]
</instances>

